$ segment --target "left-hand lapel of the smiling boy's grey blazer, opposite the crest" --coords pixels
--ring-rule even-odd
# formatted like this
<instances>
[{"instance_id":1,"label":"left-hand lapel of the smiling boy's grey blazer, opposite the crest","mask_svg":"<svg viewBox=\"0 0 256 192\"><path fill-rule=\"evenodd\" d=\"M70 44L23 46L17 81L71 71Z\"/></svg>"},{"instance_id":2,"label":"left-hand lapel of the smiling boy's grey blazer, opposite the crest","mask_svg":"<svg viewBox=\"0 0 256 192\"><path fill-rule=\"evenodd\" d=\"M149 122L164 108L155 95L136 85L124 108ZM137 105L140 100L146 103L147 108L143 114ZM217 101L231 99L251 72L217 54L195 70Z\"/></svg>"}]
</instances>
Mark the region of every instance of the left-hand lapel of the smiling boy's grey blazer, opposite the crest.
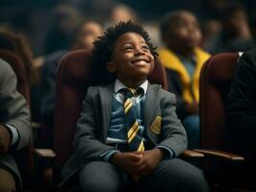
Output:
<instances>
[{"instance_id":1,"label":"left-hand lapel of the smiling boy's grey blazer, opposite the crest","mask_svg":"<svg viewBox=\"0 0 256 192\"><path fill-rule=\"evenodd\" d=\"M100 87L100 102L102 107L102 126L103 126L103 138L104 141L107 138L107 131L109 129L111 114L112 114L112 103L113 103L113 90L114 84Z\"/></svg>"}]
</instances>

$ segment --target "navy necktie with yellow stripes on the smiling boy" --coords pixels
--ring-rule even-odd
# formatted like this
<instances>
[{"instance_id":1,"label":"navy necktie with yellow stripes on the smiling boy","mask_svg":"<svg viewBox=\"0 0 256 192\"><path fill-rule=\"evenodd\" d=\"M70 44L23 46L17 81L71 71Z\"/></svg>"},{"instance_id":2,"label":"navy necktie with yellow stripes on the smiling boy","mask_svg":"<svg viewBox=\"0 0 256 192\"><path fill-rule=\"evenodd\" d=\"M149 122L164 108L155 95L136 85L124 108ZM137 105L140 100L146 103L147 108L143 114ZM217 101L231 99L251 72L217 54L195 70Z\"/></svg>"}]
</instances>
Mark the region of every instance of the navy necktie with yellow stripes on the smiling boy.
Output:
<instances>
[{"instance_id":1,"label":"navy necktie with yellow stripes on the smiling boy","mask_svg":"<svg viewBox=\"0 0 256 192\"><path fill-rule=\"evenodd\" d=\"M127 131L127 141L129 150L131 152L138 151L143 152L144 151L144 143L142 139L142 135L139 129L139 123L138 123L138 110L137 106L134 106L131 97L142 94L143 89L139 87L137 90L134 88L125 88L123 89L124 94L124 122L125 122L125 128Z\"/></svg>"}]
</instances>

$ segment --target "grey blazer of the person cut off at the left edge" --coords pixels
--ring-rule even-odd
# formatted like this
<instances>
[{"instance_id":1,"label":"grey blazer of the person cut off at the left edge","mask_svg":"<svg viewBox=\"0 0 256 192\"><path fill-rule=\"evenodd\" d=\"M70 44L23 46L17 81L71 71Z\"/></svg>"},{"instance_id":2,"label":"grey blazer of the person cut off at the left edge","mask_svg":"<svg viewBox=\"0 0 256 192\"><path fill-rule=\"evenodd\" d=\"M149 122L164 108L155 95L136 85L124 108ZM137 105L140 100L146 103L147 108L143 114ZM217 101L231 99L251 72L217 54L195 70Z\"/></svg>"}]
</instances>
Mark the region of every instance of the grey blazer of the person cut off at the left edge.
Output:
<instances>
[{"instance_id":1,"label":"grey blazer of the person cut off at the left edge","mask_svg":"<svg viewBox=\"0 0 256 192\"><path fill-rule=\"evenodd\" d=\"M16 90L16 76L9 63L0 59L0 124L16 128L19 140L15 150L20 150L32 141L30 112L25 98ZM17 190L22 181L13 154L0 155L0 167L10 171L16 180Z\"/></svg>"}]
</instances>

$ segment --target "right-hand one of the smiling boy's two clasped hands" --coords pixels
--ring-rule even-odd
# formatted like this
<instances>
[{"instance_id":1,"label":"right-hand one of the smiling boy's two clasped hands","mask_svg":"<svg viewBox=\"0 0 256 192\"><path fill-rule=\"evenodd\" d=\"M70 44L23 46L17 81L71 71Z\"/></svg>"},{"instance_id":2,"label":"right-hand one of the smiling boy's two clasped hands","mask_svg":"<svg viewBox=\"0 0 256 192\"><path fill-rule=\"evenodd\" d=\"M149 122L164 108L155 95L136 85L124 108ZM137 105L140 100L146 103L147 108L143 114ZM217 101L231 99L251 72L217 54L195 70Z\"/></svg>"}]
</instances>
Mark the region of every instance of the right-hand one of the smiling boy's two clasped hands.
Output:
<instances>
[{"instance_id":1,"label":"right-hand one of the smiling boy's two clasped hands","mask_svg":"<svg viewBox=\"0 0 256 192\"><path fill-rule=\"evenodd\" d=\"M150 174L163 157L164 154L159 148L143 152L139 162L139 169L136 170L136 176L146 176Z\"/></svg>"}]
</instances>

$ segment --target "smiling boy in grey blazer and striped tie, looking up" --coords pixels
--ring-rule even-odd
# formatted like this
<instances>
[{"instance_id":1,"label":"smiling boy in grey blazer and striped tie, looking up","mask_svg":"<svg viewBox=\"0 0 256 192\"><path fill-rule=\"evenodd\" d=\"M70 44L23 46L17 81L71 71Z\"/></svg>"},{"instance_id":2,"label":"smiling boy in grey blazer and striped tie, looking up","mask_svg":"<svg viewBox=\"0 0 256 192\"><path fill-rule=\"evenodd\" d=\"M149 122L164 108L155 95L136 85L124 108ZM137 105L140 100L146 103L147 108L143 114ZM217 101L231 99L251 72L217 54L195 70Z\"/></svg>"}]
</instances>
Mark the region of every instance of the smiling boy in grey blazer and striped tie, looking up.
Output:
<instances>
[{"instance_id":1,"label":"smiling boy in grey blazer and striped tie, looking up","mask_svg":"<svg viewBox=\"0 0 256 192\"><path fill-rule=\"evenodd\" d=\"M78 173L83 191L119 191L130 181L150 191L208 191L202 173L175 158L186 132L174 95L146 80L154 57L149 36L130 21L94 42L92 66L107 85L87 92L64 180ZM129 98L127 88L137 94Z\"/></svg>"}]
</instances>

